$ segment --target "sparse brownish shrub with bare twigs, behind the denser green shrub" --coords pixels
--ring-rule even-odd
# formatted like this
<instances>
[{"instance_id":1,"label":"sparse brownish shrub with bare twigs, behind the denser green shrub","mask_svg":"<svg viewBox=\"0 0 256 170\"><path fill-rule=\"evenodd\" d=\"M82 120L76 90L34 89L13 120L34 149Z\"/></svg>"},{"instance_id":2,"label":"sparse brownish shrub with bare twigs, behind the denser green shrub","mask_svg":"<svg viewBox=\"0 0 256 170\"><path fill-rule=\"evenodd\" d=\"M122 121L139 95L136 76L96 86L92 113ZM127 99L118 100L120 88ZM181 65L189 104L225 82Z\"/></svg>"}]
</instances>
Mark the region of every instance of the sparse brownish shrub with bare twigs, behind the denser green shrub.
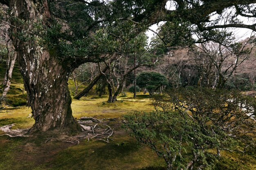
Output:
<instances>
[{"instance_id":1,"label":"sparse brownish shrub with bare twigs, behind the denser green shrub","mask_svg":"<svg viewBox=\"0 0 256 170\"><path fill-rule=\"evenodd\" d=\"M212 90L207 88L170 92L153 100L157 110L177 110L189 115L200 124L212 124L212 130L228 132L234 143L232 150L247 152L256 146L254 108L256 99L238 91ZM245 131L246 130L246 131ZM217 132L216 132L217 134ZM221 135L221 134L220 134ZM225 133L222 133L225 135ZM220 147L228 147L226 139Z\"/></svg>"}]
</instances>

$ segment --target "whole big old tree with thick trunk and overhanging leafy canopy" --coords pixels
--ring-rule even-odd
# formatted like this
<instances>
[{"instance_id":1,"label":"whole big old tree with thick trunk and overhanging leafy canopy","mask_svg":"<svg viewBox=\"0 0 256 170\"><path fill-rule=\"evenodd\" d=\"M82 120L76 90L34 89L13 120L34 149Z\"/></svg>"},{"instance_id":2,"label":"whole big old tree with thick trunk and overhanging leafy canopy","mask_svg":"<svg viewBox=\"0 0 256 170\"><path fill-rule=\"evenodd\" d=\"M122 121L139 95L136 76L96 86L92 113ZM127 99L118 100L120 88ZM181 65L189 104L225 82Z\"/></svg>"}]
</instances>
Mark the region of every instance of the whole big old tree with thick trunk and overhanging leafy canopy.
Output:
<instances>
[{"instance_id":1,"label":"whole big old tree with thick trunk and overhanging leafy canopy","mask_svg":"<svg viewBox=\"0 0 256 170\"><path fill-rule=\"evenodd\" d=\"M226 33L219 28L256 31L256 24L243 22L243 18L255 18L256 0L0 0L0 3L9 7L9 22L1 17L2 22L9 24L28 104L36 120L34 129L41 131L63 127L81 130L70 107L67 88L70 73L85 62L98 63L113 54L138 51L141 41L134 41L135 38L153 24L164 22L157 35L165 46L221 42ZM194 39L193 35L199 38Z\"/></svg>"}]
</instances>

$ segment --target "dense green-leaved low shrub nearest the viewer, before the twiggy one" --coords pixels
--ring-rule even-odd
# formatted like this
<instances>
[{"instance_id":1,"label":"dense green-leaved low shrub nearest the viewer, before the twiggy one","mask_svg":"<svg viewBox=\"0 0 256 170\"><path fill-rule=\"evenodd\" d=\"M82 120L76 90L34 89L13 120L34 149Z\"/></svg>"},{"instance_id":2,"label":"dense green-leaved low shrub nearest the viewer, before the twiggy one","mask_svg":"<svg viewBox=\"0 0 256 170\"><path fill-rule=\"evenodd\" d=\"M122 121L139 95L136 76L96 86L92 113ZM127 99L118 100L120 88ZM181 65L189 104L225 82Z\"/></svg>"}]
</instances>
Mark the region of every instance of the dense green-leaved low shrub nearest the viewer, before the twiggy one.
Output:
<instances>
[{"instance_id":1,"label":"dense green-leaved low shrub nearest the viewer, before the twiggy one","mask_svg":"<svg viewBox=\"0 0 256 170\"><path fill-rule=\"evenodd\" d=\"M206 169L215 161L214 155L206 150L218 146L222 138L210 130L212 127L205 131L186 113L135 113L125 118L128 123L124 127L130 130L130 135L163 157L168 170L192 165Z\"/></svg>"}]
</instances>

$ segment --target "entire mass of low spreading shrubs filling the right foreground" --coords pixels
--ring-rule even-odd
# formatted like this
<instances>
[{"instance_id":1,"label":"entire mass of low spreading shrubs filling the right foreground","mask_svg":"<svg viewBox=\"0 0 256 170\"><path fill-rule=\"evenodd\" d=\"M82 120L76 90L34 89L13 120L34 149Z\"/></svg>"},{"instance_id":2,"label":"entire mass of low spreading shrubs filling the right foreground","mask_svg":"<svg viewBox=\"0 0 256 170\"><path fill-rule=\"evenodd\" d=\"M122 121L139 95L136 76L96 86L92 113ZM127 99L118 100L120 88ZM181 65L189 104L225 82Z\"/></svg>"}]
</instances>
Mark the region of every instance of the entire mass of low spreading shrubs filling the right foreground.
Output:
<instances>
[{"instance_id":1,"label":"entire mass of low spreading shrubs filling the right foreground","mask_svg":"<svg viewBox=\"0 0 256 170\"><path fill-rule=\"evenodd\" d=\"M210 170L220 150L248 152L256 146L254 98L234 91L182 89L155 96L153 104L157 112L127 115L124 128L163 157L168 170Z\"/></svg>"}]
</instances>

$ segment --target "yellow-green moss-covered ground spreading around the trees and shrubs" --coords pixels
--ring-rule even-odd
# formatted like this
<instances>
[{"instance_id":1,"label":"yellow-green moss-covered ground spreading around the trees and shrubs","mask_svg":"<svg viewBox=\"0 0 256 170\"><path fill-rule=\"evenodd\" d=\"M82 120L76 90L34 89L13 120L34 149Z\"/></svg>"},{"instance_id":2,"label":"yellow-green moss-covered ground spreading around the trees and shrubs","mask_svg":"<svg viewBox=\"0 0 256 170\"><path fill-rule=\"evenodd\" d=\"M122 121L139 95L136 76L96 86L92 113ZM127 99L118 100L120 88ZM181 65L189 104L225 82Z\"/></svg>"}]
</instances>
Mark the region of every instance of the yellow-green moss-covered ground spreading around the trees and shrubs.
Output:
<instances>
[{"instance_id":1,"label":"yellow-green moss-covered ground spreading around the trees and shrubs","mask_svg":"<svg viewBox=\"0 0 256 170\"><path fill-rule=\"evenodd\" d=\"M0 66L0 77L4 76ZM29 128L34 124L31 109L26 106L26 92L22 95L22 79L18 68L14 69L11 90L7 95L7 106L0 109L0 126L15 124L13 128ZM0 79L2 81L2 79ZM69 87L74 95L74 83ZM80 87L80 90L84 86ZM1 93L1 92L0 92ZM132 93L118 97L115 103L107 103L107 95L89 95L72 101L73 116L123 118L136 111L150 111L154 107L148 94ZM88 141L78 145L63 140L49 140L51 134L36 134L31 137L10 138L0 136L0 170L164 170L165 162L152 150L130 137L121 123L113 121L113 141ZM0 135L3 132L0 132ZM256 170L256 155L222 152L216 170Z\"/></svg>"}]
</instances>

